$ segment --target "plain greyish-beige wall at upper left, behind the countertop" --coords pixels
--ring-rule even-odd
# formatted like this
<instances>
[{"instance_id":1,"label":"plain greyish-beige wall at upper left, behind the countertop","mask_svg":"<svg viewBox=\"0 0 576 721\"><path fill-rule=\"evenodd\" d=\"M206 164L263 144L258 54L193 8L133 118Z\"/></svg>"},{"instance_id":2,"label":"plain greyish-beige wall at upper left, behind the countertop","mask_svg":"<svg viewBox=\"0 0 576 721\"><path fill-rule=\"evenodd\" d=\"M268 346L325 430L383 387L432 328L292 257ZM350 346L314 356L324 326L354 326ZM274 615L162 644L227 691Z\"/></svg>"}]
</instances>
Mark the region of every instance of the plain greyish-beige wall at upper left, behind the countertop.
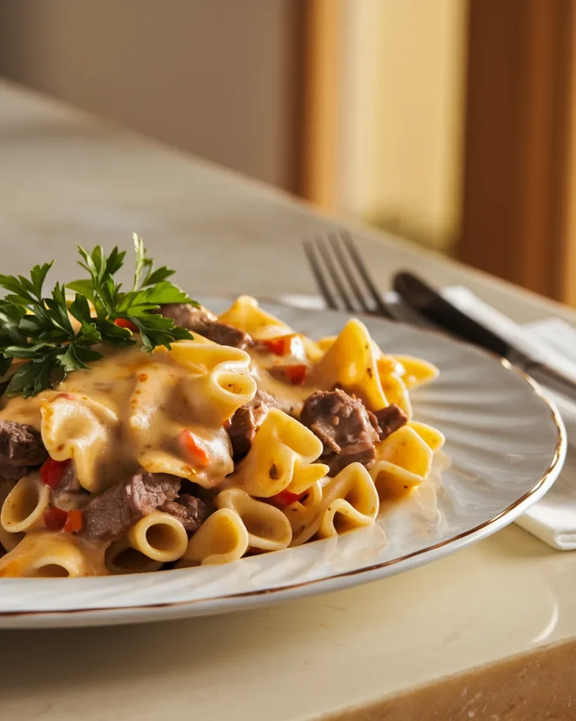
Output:
<instances>
[{"instance_id":1,"label":"plain greyish-beige wall at upper left, behind the countertop","mask_svg":"<svg viewBox=\"0 0 576 721\"><path fill-rule=\"evenodd\" d=\"M0 0L0 75L291 190L295 0Z\"/></svg>"}]
</instances>

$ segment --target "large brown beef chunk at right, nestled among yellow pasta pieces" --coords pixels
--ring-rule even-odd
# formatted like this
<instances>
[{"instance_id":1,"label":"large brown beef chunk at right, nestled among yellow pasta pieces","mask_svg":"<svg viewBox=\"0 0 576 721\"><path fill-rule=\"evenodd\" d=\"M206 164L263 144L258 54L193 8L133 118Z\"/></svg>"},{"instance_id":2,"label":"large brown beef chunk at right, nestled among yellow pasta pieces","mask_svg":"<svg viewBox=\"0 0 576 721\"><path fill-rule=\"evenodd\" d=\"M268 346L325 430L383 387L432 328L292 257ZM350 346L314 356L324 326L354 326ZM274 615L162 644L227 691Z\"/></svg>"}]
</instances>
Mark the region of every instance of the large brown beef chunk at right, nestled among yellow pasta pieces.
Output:
<instances>
[{"instance_id":1,"label":"large brown beef chunk at right, nestled among yellow pasta pieces","mask_svg":"<svg viewBox=\"0 0 576 721\"><path fill-rule=\"evenodd\" d=\"M320 461L328 464L331 476L354 461L366 468L374 465L379 438L358 398L342 389L312 393L304 402L300 421L322 441Z\"/></svg>"}]
</instances>

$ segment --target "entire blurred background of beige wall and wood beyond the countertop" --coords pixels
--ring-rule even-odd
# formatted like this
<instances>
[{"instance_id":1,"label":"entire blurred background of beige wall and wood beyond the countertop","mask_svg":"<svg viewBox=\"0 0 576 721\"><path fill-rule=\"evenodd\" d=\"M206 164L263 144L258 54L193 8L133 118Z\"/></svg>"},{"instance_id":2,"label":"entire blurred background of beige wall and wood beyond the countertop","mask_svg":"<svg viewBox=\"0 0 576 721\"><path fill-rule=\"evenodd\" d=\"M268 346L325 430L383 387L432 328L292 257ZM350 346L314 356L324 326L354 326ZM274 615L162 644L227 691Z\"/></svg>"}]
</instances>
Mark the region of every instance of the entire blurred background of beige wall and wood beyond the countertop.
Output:
<instances>
[{"instance_id":1,"label":"entire blurred background of beige wall and wood beyond the countertop","mask_svg":"<svg viewBox=\"0 0 576 721\"><path fill-rule=\"evenodd\" d=\"M1 0L0 76L576 305L575 0Z\"/></svg>"}]
</instances>

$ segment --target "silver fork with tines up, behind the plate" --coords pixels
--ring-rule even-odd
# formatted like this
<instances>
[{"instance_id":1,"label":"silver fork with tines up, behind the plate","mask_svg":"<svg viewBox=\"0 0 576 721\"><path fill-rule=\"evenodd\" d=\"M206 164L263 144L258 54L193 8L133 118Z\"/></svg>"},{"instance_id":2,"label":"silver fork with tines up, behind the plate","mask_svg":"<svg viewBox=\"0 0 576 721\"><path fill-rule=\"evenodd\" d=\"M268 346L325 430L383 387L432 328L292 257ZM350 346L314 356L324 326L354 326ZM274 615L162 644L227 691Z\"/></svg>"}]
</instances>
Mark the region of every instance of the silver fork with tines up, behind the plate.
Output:
<instances>
[{"instance_id":1,"label":"silver fork with tines up, behind the plate","mask_svg":"<svg viewBox=\"0 0 576 721\"><path fill-rule=\"evenodd\" d=\"M338 231L303 242L310 269L328 308L420 324L400 305L382 299L351 235Z\"/></svg>"}]
</instances>

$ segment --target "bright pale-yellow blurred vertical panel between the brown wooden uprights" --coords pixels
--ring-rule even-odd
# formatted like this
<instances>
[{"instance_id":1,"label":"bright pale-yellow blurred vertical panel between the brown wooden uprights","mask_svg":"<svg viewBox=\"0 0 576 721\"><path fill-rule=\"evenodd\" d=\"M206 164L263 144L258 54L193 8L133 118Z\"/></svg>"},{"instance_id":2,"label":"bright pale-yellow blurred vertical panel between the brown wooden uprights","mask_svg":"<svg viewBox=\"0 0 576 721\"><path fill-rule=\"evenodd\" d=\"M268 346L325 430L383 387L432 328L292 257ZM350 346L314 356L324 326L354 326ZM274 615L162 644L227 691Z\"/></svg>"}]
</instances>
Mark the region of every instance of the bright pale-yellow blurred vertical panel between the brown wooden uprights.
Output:
<instances>
[{"instance_id":1,"label":"bright pale-yellow blurred vertical panel between the brown wooden uprights","mask_svg":"<svg viewBox=\"0 0 576 721\"><path fill-rule=\"evenodd\" d=\"M339 0L345 211L438 249L459 235L466 0Z\"/></svg>"}]
</instances>

